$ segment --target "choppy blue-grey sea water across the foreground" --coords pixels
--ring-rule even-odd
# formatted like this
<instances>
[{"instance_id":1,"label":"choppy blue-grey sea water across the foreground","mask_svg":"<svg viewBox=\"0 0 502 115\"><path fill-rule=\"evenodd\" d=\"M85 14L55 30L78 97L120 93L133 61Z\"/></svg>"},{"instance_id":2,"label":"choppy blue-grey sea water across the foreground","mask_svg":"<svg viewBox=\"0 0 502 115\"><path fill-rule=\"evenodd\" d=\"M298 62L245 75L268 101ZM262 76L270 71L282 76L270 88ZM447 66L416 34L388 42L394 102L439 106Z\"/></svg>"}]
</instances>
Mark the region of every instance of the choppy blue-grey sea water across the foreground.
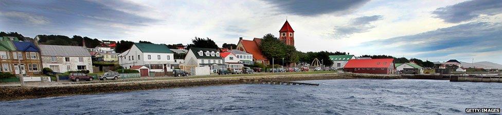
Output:
<instances>
[{"instance_id":1,"label":"choppy blue-grey sea water across the foreground","mask_svg":"<svg viewBox=\"0 0 502 115\"><path fill-rule=\"evenodd\" d=\"M501 83L301 82L320 85L239 84L30 99L0 102L0 114L466 114L465 108L502 106Z\"/></svg>"}]
</instances>

